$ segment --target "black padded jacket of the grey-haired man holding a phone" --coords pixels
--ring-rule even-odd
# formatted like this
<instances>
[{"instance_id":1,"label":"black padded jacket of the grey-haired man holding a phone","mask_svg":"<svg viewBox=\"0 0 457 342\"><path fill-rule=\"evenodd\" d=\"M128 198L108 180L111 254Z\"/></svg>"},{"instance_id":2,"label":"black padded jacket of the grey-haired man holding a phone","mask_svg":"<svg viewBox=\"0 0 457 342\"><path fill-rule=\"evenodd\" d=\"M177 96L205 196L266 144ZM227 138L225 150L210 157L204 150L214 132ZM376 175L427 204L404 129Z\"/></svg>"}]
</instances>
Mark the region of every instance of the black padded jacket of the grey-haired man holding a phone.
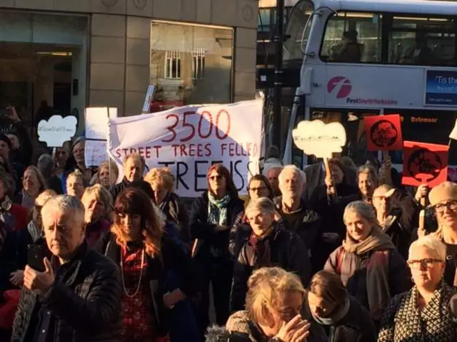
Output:
<instances>
[{"instance_id":1,"label":"black padded jacket of the grey-haired man holding a phone","mask_svg":"<svg viewBox=\"0 0 457 342\"><path fill-rule=\"evenodd\" d=\"M84 242L45 296L22 290L11 342L34 336L32 313L39 303L54 314L55 342L120 341L121 298L119 268Z\"/></svg>"}]
</instances>

